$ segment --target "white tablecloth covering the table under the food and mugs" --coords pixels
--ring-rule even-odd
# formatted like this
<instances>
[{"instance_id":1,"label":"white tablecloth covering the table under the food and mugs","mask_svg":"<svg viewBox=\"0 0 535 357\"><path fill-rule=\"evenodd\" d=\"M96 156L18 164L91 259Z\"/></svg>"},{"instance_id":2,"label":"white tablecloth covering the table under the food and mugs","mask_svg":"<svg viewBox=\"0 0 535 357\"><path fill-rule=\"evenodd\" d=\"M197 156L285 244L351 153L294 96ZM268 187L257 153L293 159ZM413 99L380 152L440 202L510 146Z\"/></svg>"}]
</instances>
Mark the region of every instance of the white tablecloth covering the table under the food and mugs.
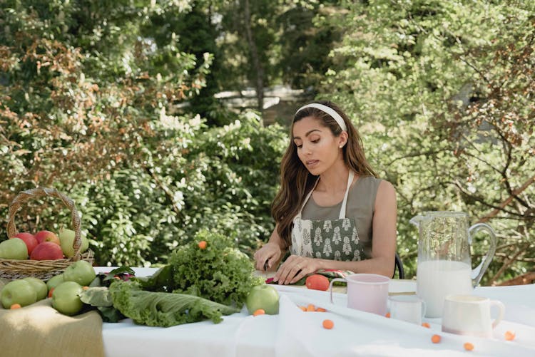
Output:
<instances>
[{"instance_id":1,"label":"white tablecloth covering the table under the food and mugs","mask_svg":"<svg viewBox=\"0 0 535 357\"><path fill-rule=\"evenodd\" d=\"M108 271L112 268L98 268ZM156 269L137 268L136 275ZM169 328L138 326L126 319L103 324L108 357L120 356L535 356L535 285L478 287L474 294L498 299L506 306L504 321L493 338L458 336L441 331L440 319L424 319L431 328L387 319L345 307L347 297L296 286L275 286L280 293L280 314L223 316L223 322L202 321ZM414 291L415 281L392 280L389 291ZM303 312L297 305L315 304L327 312ZM335 322L322 328L323 319ZM504 333L516 331L514 341ZM442 336L434 344L431 336ZM464 351L464 342L474 351Z\"/></svg>"}]
</instances>

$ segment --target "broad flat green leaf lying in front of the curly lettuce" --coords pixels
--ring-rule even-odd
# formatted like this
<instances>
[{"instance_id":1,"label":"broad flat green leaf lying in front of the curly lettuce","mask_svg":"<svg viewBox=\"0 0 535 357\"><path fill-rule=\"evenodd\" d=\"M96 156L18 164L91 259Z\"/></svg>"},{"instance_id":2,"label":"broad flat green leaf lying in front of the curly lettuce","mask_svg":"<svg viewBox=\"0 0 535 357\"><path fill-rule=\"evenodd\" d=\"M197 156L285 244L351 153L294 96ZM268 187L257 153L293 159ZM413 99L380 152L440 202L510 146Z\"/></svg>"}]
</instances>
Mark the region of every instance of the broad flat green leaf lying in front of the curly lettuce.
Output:
<instances>
[{"instance_id":1,"label":"broad flat green leaf lying in front of the curly lettuce","mask_svg":"<svg viewBox=\"0 0 535 357\"><path fill-rule=\"evenodd\" d=\"M198 296L144 291L136 281L114 281L109 291L114 308L136 324L147 326L168 327L203 319L218 324L222 315L240 311Z\"/></svg>"}]
</instances>

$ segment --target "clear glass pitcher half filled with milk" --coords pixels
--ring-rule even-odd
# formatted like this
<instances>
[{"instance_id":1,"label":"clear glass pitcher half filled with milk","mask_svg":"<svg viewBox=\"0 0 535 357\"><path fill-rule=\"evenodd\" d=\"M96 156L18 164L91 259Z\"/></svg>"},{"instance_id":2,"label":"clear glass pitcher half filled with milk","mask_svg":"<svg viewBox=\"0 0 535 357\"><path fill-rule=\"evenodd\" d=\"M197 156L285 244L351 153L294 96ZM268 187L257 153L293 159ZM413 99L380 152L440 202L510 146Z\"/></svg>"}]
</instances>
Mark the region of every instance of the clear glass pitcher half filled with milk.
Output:
<instances>
[{"instance_id":1,"label":"clear glass pitcher half filled with milk","mask_svg":"<svg viewBox=\"0 0 535 357\"><path fill-rule=\"evenodd\" d=\"M449 294L472 294L496 251L496 235L488 224L469 227L464 212L424 212L409 221L419 227L416 293L427 306L427 317L442 317L444 298ZM489 233L489 252L472 270L472 235Z\"/></svg>"}]
</instances>

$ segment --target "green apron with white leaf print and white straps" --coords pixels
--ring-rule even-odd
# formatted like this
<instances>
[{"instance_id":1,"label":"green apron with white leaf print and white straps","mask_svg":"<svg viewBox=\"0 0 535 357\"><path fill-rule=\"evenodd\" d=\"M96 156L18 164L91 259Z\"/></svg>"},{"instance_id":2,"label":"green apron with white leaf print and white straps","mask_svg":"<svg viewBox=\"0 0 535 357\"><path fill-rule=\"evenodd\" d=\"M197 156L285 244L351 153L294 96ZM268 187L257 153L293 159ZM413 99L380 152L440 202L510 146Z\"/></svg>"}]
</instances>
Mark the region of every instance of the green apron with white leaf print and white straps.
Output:
<instances>
[{"instance_id":1,"label":"green apron with white leaf print and white straps","mask_svg":"<svg viewBox=\"0 0 535 357\"><path fill-rule=\"evenodd\" d=\"M317 185L305 197L299 213L293 219L290 253L302 257L352 261L365 259L364 247L357 233L355 219L345 217L347 195L355 172L350 170L347 188L338 219L302 219L303 207ZM319 179L318 179L319 180Z\"/></svg>"}]
</instances>

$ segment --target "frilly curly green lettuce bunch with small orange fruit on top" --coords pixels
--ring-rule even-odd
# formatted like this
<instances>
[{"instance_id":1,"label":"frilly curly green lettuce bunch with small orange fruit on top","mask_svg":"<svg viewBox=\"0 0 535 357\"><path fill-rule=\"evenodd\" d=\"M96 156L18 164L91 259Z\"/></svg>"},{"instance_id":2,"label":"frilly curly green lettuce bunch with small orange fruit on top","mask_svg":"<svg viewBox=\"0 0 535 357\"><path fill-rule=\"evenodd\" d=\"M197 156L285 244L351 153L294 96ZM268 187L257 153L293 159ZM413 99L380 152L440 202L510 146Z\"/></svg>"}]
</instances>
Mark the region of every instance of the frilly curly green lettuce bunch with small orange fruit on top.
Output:
<instances>
[{"instance_id":1,"label":"frilly curly green lettuce bunch with small orange fruit on top","mask_svg":"<svg viewBox=\"0 0 535 357\"><path fill-rule=\"evenodd\" d=\"M205 249L198 243L205 241ZM149 279L139 279L143 289L173 291L241 308L253 286L263 279L253 276L249 257L235 247L233 239L203 230L170 254L169 264Z\"/></svg>"}]
</instances>

